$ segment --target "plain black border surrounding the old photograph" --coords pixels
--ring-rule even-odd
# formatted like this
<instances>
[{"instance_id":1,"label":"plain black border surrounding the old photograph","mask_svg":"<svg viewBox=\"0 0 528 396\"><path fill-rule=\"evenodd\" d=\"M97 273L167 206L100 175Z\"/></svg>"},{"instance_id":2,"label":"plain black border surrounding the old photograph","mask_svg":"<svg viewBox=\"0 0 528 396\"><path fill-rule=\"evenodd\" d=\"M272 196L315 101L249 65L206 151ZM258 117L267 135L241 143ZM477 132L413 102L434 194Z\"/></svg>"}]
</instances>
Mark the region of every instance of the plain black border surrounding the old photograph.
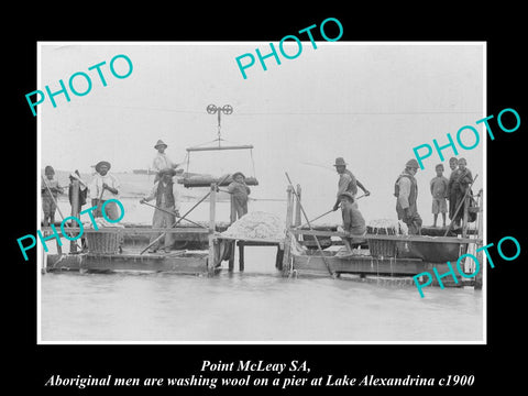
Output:
<instances>
[{"instance_id":1,"label":"plain black border surrounding the old photograph","mask_svg":"<svg viewBox=\"0 0 528 396\"><path fill-rule=\"evenodd\" d=\"M356 4L331 7L314 3L292 7L262 3L197 4L187 10L177 3L122 3L111 10L108 4L79 7L37 6L26 10L13 8L10 26L4 25L8 48L3 80L8 82L4 106L4 164L8 183L3 189L3 210L8 213L3 245L11 257L3 261L4 310L2 323L7 353L2 360L3 387L14 386L31 394L92 394L101 391L127 394L194 394L255 392L253 388L185 389L161 388L87 388L44 387L51 375L76 377L175 377L199 374L202 360L271 362L308 361L310 377L323 374L349 374L362 377L413 376L440 378L449 374L475 375L470 387L439 388L442 393L474 394L497 387L502 392L522 386L525 343L526 253L513 262L492 253L496 267L487 277L486 345L37 345L35 253L24 262L16 238L35 232L36 224L36 119L25 94L36 86L37 41L264 41L278 42L283 36L327 18L343 25L341 41L486 41L487 42L487 114L494 114L495 141L487 144L487 241L515 237L526 249L526 220L522 186L526 184L522 138L527 133L526 42L521 33L526 21L516 6L461 9L460 4L373 3L370 9ZM326 7L326 9L323 9ZM525 24L522 24L525 23ZM526 31L525 31L526 32ZM330 32L329 36L333 36ZM525 34L526 36L526 34ZM301 61L297 61L301 62ZM524 73L521 73L524 72ZM307 76L309 78L309 76ZM522 98L522 100L521 100ZM7 107L7 108L6 108ZM520 129L499 131L496 116L505 108L520 114ZM476 120L475 120L476 121ZM9 156L9 153L13 156ZM8 160L10 158L10 160ZM19 168L21 167L21 168ZM493 251L495 252L495 251ZM343 315L348 312L343 311ZM419 322L409 323L410 327ZM519 360L520 359L520 360ZM425 393L428 388L316 388L319 393ZM266 388L266 393L279 393ZM290 388L288 393L305 393ZM286 393L286 392L280 392Z\"/></svg>"}]
</instances>

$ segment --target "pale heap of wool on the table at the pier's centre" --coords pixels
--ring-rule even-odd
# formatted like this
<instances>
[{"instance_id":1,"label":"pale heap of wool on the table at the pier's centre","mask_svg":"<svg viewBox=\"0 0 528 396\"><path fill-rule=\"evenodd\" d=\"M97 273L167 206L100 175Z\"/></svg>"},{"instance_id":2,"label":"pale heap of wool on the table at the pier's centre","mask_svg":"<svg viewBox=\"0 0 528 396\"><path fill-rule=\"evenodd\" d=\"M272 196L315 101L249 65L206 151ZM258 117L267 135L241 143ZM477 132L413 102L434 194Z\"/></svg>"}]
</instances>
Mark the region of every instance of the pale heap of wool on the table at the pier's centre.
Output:
<instances>
[{"instance_id":1,"label":"pale heap of wool on the table at the pier's centre","mask_svg":"<svg viewBox=\"0 0 528 396\"><path fill-rule=\"evenodd\" d=\"M284 224L275 215L254 211L242 216L222 234L240 239L284 239Z\"/></svg>"}]
</instances>

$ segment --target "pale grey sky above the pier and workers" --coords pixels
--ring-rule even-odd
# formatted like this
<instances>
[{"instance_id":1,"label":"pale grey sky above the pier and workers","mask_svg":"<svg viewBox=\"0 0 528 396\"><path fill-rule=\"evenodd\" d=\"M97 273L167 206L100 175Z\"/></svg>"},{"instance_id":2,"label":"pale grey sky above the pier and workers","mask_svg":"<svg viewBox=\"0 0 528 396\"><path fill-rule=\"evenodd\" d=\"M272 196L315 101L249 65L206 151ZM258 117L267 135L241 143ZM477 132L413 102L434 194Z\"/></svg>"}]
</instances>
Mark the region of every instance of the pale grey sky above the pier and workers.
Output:
<instances>
[{"instance_id":1,"label":"pale grey sky above the pier and workers","mask_svg":"<svg viewBox=\"0 0 528 396\"><path fill-rule=\"evenodd\" d=\"M158 139L167 154L184 162L186 147L217 139L217 116L208 105L231 105L222 116L226 144L252 144L237 152L191 153L189 172L223 175L242 170L256 176L253 195L284 198L287 172L302 186L306 209L315 217L332 207L338 175L336 157L344 157L356 178L372 193L360 201L365 218L395 217L394 182L414 157L413 147L447 143L464 125L481 133L480 145L459 147L473 175L476 193L483 186L485 132L476 120L485 113L483 43L302 43L295 59L279 54L280 65L258 61L242 77L235 58L255 48L270 52L270 43L45 43L41 42L38 87L58 90L77 72L91 77L82 97L70 94L48 98L37 108L40 163L56 169L90 172L90 165L109 161L113 172L147 168ZM286 47L295 53L296 44ZM275 43L275 46L277 44ZM110 61L127 55L132 74L112 76ZM90 66L101 67L102 87ZM120 62L121 61L121 62ZM127 72L123 59L116 69ZM82 78L77 78L78 90ZM31 111L31 110L29 110ZM471 135L462 136L470 145ZM449 177L444 152L444 176ZM418 208L429 220L429 182L441 163L435 153L419 170ZM254 167L253 167L254 164ZM184 166L187 168L187 164ZM361 190L360 190L361 194ZM336 218L338 219L338 218ZM425 221L428 223L430 221Z\"/></svg>"}]
</instances>

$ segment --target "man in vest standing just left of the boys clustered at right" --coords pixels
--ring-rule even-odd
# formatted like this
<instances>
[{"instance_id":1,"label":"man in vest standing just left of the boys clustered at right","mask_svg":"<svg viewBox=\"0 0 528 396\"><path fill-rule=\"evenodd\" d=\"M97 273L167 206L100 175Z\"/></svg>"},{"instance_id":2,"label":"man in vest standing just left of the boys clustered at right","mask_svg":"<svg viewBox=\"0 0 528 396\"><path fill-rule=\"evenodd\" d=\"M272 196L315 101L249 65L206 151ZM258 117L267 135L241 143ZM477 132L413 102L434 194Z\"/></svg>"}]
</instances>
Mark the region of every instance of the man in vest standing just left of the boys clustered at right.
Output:
<instances>
[{"instance_id":1,"label":"man in vest standing just left of the boys clustered at right","mask_svg":"<svg viewBox=\"0 0 528 396\"><path fill-rule=\"evenodd\" d=\"M421 217L416 205L418 198L418 184L415 175L418 172L418 162L413 158L405 164L404 172L394 185L396 199L396 213L409 228L409 234L421 233Z\"/></svg>"}]
</instances>

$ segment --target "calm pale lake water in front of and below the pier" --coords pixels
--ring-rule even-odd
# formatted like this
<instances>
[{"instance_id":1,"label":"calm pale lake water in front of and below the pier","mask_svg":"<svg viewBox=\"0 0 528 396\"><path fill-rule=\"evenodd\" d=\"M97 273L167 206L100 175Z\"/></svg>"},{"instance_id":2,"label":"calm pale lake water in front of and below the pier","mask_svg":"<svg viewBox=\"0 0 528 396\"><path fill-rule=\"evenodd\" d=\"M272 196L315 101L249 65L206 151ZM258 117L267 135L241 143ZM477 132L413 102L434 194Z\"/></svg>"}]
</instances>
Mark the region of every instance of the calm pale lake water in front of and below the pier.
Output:
<instances>
[{"instance_id":1,"label":"calm pale lake water in front of and below the pier","mask_svg":"<svg viewBox=\"0 0 528 396\"><path fill-rule=\"evenodd\" d=\"M482 341L473 288L283 278L275 249L245 272L42 276L43 341ZM223 264L226 266L226 264Z\"/></svg>"}]
</instances>

